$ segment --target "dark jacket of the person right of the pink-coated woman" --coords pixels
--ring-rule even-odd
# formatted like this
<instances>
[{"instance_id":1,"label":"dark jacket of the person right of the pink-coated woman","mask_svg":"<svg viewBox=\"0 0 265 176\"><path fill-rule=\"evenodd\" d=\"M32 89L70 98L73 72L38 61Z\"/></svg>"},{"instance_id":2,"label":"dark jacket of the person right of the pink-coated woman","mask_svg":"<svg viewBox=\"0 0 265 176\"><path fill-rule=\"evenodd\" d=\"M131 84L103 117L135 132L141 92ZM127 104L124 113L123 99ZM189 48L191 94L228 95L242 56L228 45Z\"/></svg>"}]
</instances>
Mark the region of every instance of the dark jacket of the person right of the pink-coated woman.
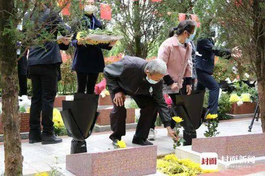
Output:
<instances>
[{"instance_id":1,"label":"dark jacket of the person right of the pink-coated woman","mask_svg":"<svg viewBox=\"0 0 265 176\"><path fill-rule=\"evenodd\" d=\"M197 51L202 56L195 56L196 68L209 74L213 74L214 56L225 57L226 59L231 57L230 49L213 49L213 46L211 38L201 39L197 42Z\"/></svg>"}]
</instances>

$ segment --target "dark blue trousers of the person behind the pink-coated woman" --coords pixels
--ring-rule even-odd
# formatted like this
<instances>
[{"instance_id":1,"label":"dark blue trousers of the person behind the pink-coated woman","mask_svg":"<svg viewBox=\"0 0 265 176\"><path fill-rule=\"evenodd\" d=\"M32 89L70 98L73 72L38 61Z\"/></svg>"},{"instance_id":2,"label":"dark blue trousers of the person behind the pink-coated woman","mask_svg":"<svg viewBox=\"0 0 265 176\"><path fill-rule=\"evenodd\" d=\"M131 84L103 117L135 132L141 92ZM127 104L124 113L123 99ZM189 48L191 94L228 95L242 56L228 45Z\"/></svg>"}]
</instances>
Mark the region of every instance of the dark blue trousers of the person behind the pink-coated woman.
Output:
<instances>
[{"instance_id":1,"label":"dark blue trousers of the person behind the pink-coated woman","mask_svg":"<svg viewBox=\"0 0 265 176\"><path fill-rule=\"evenodd\" d=\"M211 114L217 114L220 87L211 74L200 69L196 69L196 72L198 76L197 90L205 90L205 88L210 90L208 109Z\"/></svg>"}]
</instances>

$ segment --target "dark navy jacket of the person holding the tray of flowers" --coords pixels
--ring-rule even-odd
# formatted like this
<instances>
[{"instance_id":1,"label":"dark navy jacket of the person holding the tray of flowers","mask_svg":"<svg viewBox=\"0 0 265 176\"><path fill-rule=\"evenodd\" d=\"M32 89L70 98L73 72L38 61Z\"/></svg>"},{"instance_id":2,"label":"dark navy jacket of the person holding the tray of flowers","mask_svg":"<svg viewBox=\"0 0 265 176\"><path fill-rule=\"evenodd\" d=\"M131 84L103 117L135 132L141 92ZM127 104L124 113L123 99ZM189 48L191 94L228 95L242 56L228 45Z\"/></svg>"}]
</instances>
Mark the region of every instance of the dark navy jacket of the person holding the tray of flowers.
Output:
<instances>
[{"instance_id":1,"label":"dark navy jacket of the person holding the tray of flowers","mask_svg":"<svg viewBox=\"0 0 265 176\"><path fill-rule=\"evenodd\" d=\"M93 23L94 22L94 23ZM90 25L91 24L91 25ZM82 29L102 29L101 22L93 15L92 18L84 16L81 20L75 23L75 28L79 26ZM94 26L94 27L93 27ZM72 27L74 29L74 26ZM98 45L78 45L77 30L72 39L72 45L76 47L72 70L84 72L84 73L100 73L103 72L105 67L104 57L101 49L110 50L109 44Z\"/></svg>"}]
</instances>

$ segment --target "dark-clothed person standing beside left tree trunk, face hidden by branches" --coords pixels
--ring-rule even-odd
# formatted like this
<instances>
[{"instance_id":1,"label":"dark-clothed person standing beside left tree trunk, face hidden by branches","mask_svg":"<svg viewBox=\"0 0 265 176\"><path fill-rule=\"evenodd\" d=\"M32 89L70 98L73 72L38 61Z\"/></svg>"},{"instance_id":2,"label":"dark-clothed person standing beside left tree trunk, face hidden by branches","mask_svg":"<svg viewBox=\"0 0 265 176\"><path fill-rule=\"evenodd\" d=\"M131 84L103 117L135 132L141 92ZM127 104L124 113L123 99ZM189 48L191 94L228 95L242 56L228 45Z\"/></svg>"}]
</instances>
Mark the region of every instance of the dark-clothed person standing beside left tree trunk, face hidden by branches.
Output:
<instances>
[{"instance_id":1,"label":"dark-clothed person standing beside left tree trunk, face hidden by branches","mask_svg":"<svg viewBox=\"0 0 265 176\"><path fill-rule=\"evenodd\" d=\"M52 12L45 3L41 4L41 10L33 9L25 14L23 26L27 22L37 22L44 30L52 33L54 42L46 42L44 46L32 46L28 54L28 73L32 82L32 98L29 119L29 143L42 142L53 144L62 142L61 138L53 132L53 103L56 96L59 66L62 63L60 46L55 41L57 33L65 36L67 26L61 20L57 12ZM26 30L26 29L24 29ZM36 36L38 38L39 36ZM69 41L61 44L67 48ZM40 128L40 116L42 117L43 131Z\"/></svg>"}]
</instances>

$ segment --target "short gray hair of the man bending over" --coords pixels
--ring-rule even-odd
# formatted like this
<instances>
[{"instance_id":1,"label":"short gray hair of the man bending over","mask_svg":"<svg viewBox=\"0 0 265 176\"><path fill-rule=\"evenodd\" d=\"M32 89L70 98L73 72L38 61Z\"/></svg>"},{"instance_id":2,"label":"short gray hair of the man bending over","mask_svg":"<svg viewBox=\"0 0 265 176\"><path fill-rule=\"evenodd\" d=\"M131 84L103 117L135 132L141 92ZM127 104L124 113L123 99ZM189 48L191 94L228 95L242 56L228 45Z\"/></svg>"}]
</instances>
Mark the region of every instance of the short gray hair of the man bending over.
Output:
<instances>
[{"instance_id":1,"label":"short gray hair of the man bending over","mask_svg":"<svg viewBox=\"0 0 265 176\"><path fill-rule=\"evenodd\" d=\"M147 63L146 67L145 67L145 71L148 70L150 72L150 74L162 74L165 75L166 74L166 64L163 60L161 59L154 59L151 60Z\"/></svg>"}]
</instances>

